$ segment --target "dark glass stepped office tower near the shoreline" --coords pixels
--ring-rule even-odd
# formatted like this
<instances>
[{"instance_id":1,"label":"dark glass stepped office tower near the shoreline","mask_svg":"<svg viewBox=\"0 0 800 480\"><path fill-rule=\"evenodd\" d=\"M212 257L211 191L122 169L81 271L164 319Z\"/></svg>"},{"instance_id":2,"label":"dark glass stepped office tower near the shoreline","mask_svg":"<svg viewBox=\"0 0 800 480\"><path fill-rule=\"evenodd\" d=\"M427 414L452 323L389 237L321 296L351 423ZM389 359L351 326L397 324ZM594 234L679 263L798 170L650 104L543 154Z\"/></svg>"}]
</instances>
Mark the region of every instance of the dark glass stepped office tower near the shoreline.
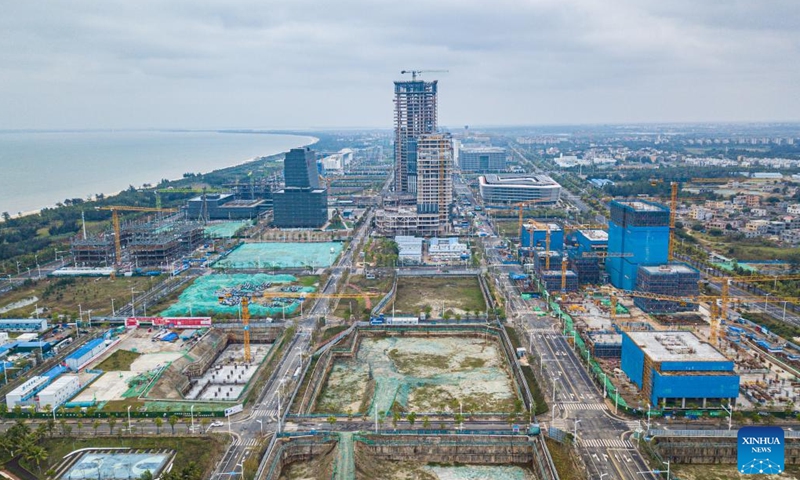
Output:
<instances>
[{"instance_id":1,"label":"dark glass stepped office tower near the shoreline","mask_svg":"<svg viewBox=\"0 0 800 480\"><path fill-rule=\"evenodd\" d=\"M283 164L285 188L275 192L272 224L278 228L321 228L328 222L328 191L320 186L314 151L293 148Z\"/></svg>"}]
</instances>

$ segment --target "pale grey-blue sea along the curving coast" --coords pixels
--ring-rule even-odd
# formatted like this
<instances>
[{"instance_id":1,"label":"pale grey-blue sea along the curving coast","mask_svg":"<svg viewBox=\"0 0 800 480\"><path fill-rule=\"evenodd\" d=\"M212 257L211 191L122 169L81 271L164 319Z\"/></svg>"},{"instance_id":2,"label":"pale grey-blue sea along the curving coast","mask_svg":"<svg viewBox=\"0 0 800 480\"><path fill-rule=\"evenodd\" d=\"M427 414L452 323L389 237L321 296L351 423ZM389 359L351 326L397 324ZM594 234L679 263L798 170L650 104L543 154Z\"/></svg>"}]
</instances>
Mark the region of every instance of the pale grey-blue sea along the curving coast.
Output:
<instances>
[{"instance_id":1,"label":"pale grey-blue sea along the curving coast","mask_svg":"<svg viewBox=\"0 0 800 480\"><path fill-rule=\"evenodd\" d=\"M0 132L0 212L113 194L308 145L312 137L220 132Z\"/></svg>"}]
</instances>

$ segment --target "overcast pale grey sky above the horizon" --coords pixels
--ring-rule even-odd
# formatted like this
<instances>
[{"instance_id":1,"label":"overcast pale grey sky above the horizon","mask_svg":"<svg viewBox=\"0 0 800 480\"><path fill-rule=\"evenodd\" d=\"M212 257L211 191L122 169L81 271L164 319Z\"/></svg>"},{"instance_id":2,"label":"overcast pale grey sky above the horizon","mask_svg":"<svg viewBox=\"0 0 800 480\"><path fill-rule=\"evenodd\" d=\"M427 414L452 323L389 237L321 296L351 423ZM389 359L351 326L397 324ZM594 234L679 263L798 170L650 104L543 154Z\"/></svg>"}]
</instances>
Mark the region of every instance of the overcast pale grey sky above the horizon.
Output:
<instances>
[{"instance_id":1,"label":"overcast pale grey sky above the horizon","mask_svg":"<svg viewBox=\"0 0 800 480\"><path fill-rule=\"evenodd\" d=\"M797 0L2 3L0 129L800 120Z\"/></svg>"}]
</instances>

